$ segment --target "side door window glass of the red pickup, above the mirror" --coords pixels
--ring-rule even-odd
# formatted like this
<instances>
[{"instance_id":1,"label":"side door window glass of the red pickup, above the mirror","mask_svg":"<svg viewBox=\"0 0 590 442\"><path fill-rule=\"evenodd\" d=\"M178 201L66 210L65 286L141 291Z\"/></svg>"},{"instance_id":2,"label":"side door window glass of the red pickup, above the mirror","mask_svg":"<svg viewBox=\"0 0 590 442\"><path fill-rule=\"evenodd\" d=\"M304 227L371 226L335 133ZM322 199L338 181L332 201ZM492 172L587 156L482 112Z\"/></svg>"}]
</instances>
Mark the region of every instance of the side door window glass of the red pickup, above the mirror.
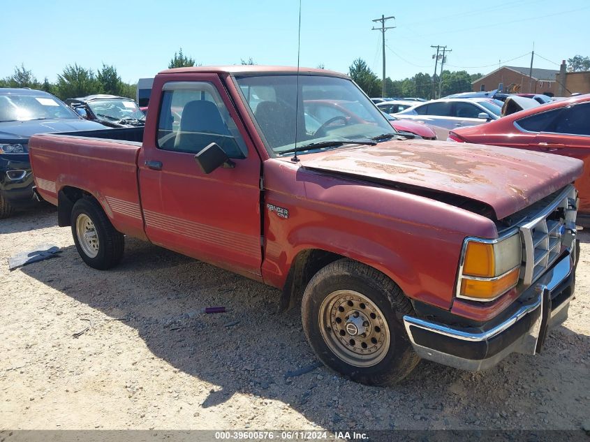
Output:
<instances>
[{"instance_id":1,"label":"side door window glass of the red pickup, above the mirror","mask_svg":"<svg viewBox=\"0 0 590 442\"><path fill-rule=\"evenodd\" d=\"M163 88L158 147L198 153L215 142L230 158L246 158L247 149L213 84L170 82Z\"/></svg>"}]
</instances>

